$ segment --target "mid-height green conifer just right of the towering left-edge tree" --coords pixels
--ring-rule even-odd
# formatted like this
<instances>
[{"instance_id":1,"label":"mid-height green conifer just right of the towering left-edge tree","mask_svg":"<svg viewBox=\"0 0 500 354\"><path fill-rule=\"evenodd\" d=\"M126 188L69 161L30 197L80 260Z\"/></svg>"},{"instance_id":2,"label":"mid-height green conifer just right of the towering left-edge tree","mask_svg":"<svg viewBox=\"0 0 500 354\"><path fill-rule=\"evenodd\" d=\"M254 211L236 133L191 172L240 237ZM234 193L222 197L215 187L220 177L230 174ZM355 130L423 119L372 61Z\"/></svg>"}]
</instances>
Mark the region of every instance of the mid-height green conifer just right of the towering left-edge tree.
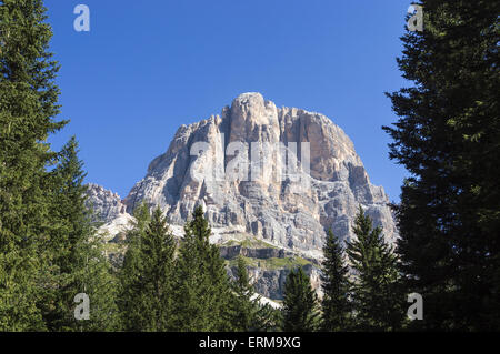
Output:
<instances>
[{"instance_id":1,"label":"mid-height green conifer just right of the towering left-edge tree","mask_svg":"<svg viewBox=\"0 0 500 354\"><path fill-rule=\"evenodd\" d=\"M50 175L54 186L50 215L60 226L51 232L51 242L46 246L51 267L43 276L46 283L56 286L42 289L39 307L50 331L114 330L117 284L103 256L103 244L97 236L91 212L86 206L86 173L78 159L74 136L58 158L59 164ZM73 299L79 293L86 293L91 300L90 321L74 320Z\"/></svg>"}]
</instances>

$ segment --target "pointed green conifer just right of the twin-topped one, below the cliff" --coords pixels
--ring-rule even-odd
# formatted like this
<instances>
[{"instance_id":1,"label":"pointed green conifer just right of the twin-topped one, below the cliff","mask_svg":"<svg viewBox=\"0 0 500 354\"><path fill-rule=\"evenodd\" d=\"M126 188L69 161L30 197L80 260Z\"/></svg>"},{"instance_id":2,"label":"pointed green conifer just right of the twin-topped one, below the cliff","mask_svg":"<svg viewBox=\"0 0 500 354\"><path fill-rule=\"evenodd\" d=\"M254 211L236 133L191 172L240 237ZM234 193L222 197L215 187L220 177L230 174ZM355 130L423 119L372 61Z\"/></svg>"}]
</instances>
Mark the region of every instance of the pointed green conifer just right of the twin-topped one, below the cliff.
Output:
<instances>
[{"instance_id":1,"label":"pointed green conifer just right of the twin-topped one, below the cliff","mask_svg":"<svg viewBox=\"0 0 500 354\"><path fill-rule=\"evenodd\" d=\"M211 230L197 206L184 226L176 269L176 325L181 332L231 330L229 277Z\"/></svg>"}]
</instances>

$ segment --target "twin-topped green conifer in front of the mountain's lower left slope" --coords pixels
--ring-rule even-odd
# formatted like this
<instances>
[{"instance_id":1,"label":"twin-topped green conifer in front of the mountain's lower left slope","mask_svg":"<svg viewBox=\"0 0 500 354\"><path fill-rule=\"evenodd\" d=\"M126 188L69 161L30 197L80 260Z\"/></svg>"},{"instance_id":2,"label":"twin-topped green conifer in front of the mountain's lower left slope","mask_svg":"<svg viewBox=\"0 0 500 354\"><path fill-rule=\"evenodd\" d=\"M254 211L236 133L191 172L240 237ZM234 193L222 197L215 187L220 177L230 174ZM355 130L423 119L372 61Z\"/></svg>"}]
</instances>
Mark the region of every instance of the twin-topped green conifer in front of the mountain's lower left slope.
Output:
<instances>
[{"instance_id":1,"label":"twin-topped green conifer in front of the mountain's lower left slope","mask_svg":"<svg viewBox=\"0 0 500 354\"><path fill-rule=\"evenodd\" d=\"M177 244L159 208L150 216L142 204L136 220L120 275L123 326L128 331L171 331Z\"/></svg>"}]
</instances>

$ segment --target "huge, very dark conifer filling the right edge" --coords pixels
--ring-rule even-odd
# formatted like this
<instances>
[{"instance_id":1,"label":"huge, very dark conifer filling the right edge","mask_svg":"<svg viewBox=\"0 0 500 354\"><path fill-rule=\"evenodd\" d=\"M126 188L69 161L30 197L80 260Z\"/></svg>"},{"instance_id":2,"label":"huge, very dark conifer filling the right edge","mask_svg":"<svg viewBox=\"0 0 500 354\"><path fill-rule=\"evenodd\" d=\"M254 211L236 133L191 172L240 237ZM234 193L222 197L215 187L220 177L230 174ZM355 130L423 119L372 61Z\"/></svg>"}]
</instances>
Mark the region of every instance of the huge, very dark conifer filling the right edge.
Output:
<instances>
[{"instance_id":1,"label":"huge, very dark conifer filling the right edge","mask_svg":"<svg viewBox=\"0 0 500 354\"><path fill-rule=\"evenodd\" d=\"M389 94L390 158L410 172L396 206L408 293L428 330L500 328L499 1L423 0Z\"/></svg>"}]
</instances>

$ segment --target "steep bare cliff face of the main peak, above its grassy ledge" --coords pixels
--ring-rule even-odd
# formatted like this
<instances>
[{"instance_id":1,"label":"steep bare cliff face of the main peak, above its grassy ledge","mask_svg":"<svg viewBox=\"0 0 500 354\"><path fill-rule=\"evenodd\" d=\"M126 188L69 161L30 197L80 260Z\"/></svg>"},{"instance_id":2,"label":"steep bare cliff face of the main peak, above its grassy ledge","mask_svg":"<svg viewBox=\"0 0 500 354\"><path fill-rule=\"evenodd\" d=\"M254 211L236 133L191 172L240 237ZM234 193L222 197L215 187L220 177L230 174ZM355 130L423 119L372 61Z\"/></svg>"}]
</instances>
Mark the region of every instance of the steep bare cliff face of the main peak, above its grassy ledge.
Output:
<instances>
[{"instance_id":1,"label":"steep bare cliff face of the main peak, above its grassy ledge","mask_svg":"<svg viewBox=\"0 0 500 354\"><path fill-rule=\"evenodd\" d=\"M198 142L204 150L194 145ZM282 171L288 171L293 156L282 159L268 151L252 174L251 146L294 145L296 158L302 161L302 143L308 144L308 171L283 179ZM237 178L228 178L238 161L242 164ZM376 225L383 226L387 239L397 234L388 198L381 186L370 183L349 136L324 115L277 109L257 92L237 97L218 120L180 130L123 203L128 212L141 202L158 205L172 224L182 225L200 201L212 227L240 227L302 252L321 252L329 229L341 240L352 237L359 205Z\"/></svg>"}]
</instances>

